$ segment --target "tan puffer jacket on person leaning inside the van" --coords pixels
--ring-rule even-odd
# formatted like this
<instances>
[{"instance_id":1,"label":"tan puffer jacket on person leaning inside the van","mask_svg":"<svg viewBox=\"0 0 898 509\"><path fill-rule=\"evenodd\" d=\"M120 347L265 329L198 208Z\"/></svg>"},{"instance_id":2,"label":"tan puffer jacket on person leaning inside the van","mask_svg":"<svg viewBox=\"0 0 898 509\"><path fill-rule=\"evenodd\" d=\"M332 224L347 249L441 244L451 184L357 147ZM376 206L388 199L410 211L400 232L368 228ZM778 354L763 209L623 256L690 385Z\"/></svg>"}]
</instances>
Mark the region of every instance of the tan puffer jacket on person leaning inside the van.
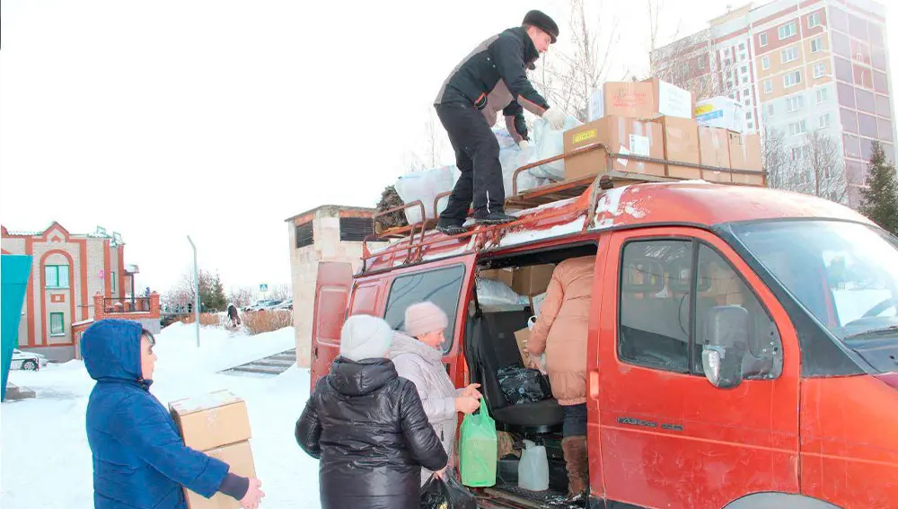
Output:
<instances>
[{"instance_id":1,"label":"tan puffer jacket on person leaning inside the van","mask_svg":"<svg viewBox=\"0 0 898 509\"><path fill-rule=\"evenodd\" d=\"M552 273L527 350L546 354L552 395L560 405L586 401L586 334L595 257L566 259Z\"/></svg>"}]
</instances>

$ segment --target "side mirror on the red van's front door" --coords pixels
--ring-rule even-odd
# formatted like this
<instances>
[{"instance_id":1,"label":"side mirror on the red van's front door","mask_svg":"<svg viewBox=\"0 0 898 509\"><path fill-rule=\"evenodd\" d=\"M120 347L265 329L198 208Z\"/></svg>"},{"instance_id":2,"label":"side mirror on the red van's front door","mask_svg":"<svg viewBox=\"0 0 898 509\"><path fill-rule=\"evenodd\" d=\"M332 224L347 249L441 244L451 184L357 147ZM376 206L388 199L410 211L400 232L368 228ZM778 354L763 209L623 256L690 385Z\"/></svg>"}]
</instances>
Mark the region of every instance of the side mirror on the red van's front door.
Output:
<instances>
[{"instance_id":1,"label":"side mirror on the red van's front door","mask_svg":"<svg viewBox=\"0 0 898 509\"><path fill-rule=\"evenodd\" d=\"M741 306L711 308L704 323L701 367L718 389L742 383L742 363L748 347L748 312Z\"/></svg>"}]
</instances>

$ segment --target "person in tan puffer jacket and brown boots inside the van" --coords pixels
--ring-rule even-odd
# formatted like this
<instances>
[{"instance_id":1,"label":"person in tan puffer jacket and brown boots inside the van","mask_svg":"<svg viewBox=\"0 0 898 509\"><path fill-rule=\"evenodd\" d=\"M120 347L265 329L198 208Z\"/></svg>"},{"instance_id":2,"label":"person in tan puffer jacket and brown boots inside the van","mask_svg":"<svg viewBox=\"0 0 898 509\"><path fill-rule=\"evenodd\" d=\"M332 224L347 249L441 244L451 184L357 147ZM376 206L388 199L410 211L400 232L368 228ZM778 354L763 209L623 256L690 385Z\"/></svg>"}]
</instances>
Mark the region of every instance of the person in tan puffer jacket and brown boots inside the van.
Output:
<instances>
[{"instance_id":1,"label":"person in tan puffer jacket and brown boots inside the van","mask_svg":"<svg viewBox=\"0 0 898 509\"><path fill-rule=\"evenodd\" d=\"M527 341L529 367L541 369L538 359L546 354L552 395L564 411L561 450L568 467L570 502L585 499L589 487L585 359L594 267L594 256L558 264Z\"/></svg>"}]
</instances>

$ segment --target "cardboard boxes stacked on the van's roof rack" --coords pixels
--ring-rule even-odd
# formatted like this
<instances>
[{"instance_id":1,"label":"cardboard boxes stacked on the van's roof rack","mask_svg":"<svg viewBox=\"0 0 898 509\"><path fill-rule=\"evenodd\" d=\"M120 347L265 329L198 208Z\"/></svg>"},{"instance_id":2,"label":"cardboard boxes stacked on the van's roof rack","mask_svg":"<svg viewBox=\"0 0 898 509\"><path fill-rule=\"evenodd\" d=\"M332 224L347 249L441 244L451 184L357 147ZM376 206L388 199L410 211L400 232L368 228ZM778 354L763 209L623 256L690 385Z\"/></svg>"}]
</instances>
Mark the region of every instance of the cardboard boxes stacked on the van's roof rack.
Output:
<instances>
[{"instance_id":1,"label":"cardboard boxes stacked on the van's roof rack","mask_svg":"<svg viewBox=\"0 0 898 509\"><path fill-rule=\"evenodd\" d=\"M612 153L753 173L702 171L677 164L628 159L615 159L609 167L605 152L592 150L568 155L566 180L621 171L764 185L760 138L745 132L744 111L736 101L714 98L696 104L690 92L657 79L609 82L594 92L588 116L588 123L565 133L565 154L601 143Z\"/></svg>"}]
</instances>

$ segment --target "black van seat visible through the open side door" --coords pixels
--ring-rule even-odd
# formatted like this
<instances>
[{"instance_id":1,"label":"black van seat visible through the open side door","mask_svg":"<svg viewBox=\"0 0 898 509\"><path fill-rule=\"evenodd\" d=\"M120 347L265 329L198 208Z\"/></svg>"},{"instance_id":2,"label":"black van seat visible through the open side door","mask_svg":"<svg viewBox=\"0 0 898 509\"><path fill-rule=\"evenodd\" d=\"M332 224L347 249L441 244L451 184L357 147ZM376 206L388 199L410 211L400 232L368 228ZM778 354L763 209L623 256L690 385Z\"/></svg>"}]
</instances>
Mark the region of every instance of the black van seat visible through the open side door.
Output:
<instances>
[{"instance_id":1,"label":"black van seat visible through the open side door","mask_svg":"<svg viewBox=\"0 0 898 509\"><path fill-rule=\"evenodd\" d=\"M467 341L471 381L479 382L489 413L499 430L541 434L561 430L564 415L556 399L511 405L499 387L497 371L507 366L523 367L515 331L527 326L526 311L483 313L471 319Z\"/></svg>"}]
</instances>

